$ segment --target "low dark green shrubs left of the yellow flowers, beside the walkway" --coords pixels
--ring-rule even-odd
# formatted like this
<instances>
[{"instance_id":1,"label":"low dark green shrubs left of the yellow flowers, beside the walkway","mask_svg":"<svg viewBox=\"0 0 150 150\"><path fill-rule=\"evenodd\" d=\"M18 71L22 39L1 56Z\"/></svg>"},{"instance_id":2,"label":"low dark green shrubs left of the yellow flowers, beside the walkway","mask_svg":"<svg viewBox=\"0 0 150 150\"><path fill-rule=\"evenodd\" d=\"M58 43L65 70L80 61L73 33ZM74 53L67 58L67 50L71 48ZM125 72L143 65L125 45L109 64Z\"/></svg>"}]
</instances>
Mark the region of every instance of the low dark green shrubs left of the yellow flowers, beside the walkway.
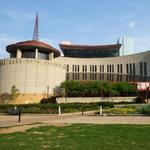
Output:
<instances>
[{"instance_id":1,"label":"low dark green shrubs left of the yellow flowers, beside the walkway","mask_svg":"<svg viewBox=\"0 0 150 150\"><path fill-rule=\"evenodd\" d=\"M48 113L48 114L58 113L57 103L22 104L16 106L17 108L21 108L23 110L23 113ZM99 106L102 106L103 108L113 108L114 103L111 102L67 103L67 104L60 104L60 106L62 109L62 113L69 113L69 112L79 112L82 110L82 108L84 111L98 110ZM7 113L8 110L12 108L14 108L14 105L0 105L0 113Z\"/></svg>"}]
</instances>

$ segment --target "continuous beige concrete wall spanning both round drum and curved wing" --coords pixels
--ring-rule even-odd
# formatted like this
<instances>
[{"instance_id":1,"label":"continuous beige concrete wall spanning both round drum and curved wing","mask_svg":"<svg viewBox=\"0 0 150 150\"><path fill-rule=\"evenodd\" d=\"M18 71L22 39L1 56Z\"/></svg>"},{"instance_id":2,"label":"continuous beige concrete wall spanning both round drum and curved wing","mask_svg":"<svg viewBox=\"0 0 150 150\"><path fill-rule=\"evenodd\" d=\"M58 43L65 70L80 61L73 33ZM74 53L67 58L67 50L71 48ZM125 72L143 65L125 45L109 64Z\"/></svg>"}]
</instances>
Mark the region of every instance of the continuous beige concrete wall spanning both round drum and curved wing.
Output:
<instances>
[{"instance_id":1,"label":"continuous beige concrete wall spanning both round drum and curved wing","mask_svg":"<svg viewBox=\"0 0 150 150\"><path fill-rule=\"evenodd\" d=\"M122 64L123 74L126 74L126 64L135 63L136 75L140 75L140 62L147 63L147 76L150 76L150 51L111 58L2 59L0 60L0 94L9 93L13 85L16 85L24 95L44 95L48 92L47 86L49 86L48 93L53 94L53 89L65 81L67 64L69 72L72 72L73 65L79 65L80 72L82 72L82 65L87 65L87 72L90 72L90 65L97 65L97 72L99 72L99 65L104 65L105 73L107 73L107 65L114 64L114 73L117 73L117 64ZM26 103L26 101L39 100L26 97L23 101Z\"/></svg>"}]
</instances>

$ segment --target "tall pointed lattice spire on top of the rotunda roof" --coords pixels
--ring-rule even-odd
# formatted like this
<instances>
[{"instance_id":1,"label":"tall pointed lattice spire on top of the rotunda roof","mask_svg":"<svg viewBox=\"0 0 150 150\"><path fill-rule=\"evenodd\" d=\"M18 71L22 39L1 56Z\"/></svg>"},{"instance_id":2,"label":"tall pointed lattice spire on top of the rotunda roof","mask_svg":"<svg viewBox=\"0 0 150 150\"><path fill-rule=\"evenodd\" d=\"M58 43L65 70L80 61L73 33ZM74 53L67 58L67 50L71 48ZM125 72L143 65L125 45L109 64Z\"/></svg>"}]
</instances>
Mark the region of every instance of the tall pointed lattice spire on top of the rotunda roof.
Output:
<instances>
[{"instance_id":1,"label":"tall pointed lattice spire on top of the rotunda roof","mask_svg":"<svg viewBox=\"0 0 150 150\"><path fill-rule=\"evenodd\" d=\"M34 33L33 40L39 40L39 22L38 22L38 13L36 14L35 24L34 24Z\"/></svg>"}]
</instances>

